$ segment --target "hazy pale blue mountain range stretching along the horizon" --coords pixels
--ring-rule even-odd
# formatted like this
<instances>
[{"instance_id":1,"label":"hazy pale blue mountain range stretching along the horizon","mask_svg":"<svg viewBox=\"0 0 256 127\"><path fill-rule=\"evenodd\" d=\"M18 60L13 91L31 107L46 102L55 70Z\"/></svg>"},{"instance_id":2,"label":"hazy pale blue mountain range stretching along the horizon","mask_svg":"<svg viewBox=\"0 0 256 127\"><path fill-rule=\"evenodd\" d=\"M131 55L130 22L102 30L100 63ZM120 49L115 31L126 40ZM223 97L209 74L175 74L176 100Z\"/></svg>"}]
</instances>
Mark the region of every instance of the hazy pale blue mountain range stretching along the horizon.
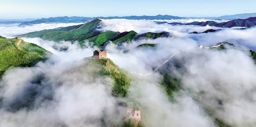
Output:
<instances>
[{"instance_id":1,"label":"hazy pale blue mountain range stretching along the horizon","mask_svg":"<svg viewBox=\"0 0 256 127\"><path fill-rule=\"evenodd\" d=\"M50 17L50 18L41 18L41 19L0 19L0 24L10 24L10 23L21 23L19 26L26 26L26 25L33 25L33 24L40 24L40 23L78 23L78 22L87 22L93 20L95 18L99 19L134 19L134 20L171 20L171 19L215 19L215 20L224 20L224 19L246 19L249 17L253 17L254 13L244 13L244 14L235 14L235 15L226 15L220 17L178 17L172 15L156 15L156 16L113 16L113 17ZM14 22L15 21L15 22Z\"/></svg>"}]
</instances>

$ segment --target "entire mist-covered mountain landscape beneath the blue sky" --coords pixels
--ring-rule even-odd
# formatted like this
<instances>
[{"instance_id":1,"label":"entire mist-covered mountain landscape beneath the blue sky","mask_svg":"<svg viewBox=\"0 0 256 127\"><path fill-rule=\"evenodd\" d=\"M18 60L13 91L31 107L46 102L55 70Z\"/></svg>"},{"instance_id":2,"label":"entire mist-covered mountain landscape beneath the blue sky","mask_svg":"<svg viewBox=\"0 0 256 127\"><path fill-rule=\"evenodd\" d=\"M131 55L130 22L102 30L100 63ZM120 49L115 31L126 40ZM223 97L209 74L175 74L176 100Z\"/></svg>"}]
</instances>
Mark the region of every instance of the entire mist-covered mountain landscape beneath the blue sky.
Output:
<instances>
[{"instance_id":1,"label":"entire mist-covered mountain landscape beneath the blue sky","mask_svg":"<svg viewBox=\"0 0 256 127\"><path fill-rule=\"evenodd\" d=\"M255 17L107 18L0 25L0 127L254 127Z\"/></svg>"}]
</instances>

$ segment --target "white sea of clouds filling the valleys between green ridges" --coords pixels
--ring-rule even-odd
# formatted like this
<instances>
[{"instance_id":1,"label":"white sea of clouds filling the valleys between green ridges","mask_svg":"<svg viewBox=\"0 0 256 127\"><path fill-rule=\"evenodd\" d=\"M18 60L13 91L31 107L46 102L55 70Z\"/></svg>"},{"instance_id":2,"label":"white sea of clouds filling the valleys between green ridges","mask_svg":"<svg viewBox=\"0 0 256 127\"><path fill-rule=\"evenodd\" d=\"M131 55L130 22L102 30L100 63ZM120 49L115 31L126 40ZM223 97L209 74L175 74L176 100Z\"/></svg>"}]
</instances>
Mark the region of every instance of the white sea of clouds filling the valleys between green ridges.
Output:
<instances>
[{"instance_id":1,"label":"white sea of clouds filling the valleys between green ridges","mask_svg":"<svg viewBox=\"0 0 256 127\"><path fill-rule=\"evenodd\" d=\"M108 58L132 78L130 94L123 101L132 100L139 104L142 123L146 127L216 127L215 118L234 127L253 127L256 124L256 65L250 52L231 46L226 46L226 50L197 47L229 41L255 48L256 28L188 34L219 28L157 25L151 21L126 19L103 20L103 23L103 31L170 32L170 37L143 39L119 48L110 42L106 47ZM40 30L33 28L35 26L19 28L21 31L17 32L14 29L17 26L11 26L10 33L9 26L2 26L0 35L14 37L26 33L26 28L30 29L29 32ZM64 27L64 24L55 27ZM97 68L83 66L85 62L81 61L92 56L97 47L80 48L77 42L56 44L40 38L23 39L55 55L35 67L17 67L5 73L0 82L1 127L102 127L122 123L125 108L118 105L120 98L112 96L109 90L108 84L113 81L108 77L92 77L92 70ZM143 43L158 45L134 48ZM68 47L67 51L56 50L56 47L63 46ZM154 73L152 68L180 50L183 52L175 59L183 61L185 73L179 72L175 66L162 68L181 80L181 90L171 102L161 86L163 76ZM33 102L28 108L15 110L26 105L28 100Z\"/></svg>"}]
</instances>

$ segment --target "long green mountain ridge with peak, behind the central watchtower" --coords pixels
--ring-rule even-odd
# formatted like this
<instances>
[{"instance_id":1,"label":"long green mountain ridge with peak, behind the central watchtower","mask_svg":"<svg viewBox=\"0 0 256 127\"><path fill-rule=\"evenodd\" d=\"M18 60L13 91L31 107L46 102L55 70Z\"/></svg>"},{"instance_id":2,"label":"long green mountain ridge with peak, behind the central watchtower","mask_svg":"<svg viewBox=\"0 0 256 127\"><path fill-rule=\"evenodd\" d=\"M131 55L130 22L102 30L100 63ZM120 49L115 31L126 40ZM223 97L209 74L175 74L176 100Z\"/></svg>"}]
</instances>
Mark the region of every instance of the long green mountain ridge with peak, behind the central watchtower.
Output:
<instances>
[{"instance_id":1,"label":"long green mountain ridge with peak, behind the central watchtower","mask_svg":"<svg viewBox=\"0 0 256 127\"><path fill-rule=\"evenodd\" d=\"M50 41L78 41L81 46L93 42L91 46L106 46L109 41L112 41L114 44L122 44L124 42L131 42L138 39L156 39L158 37L167 37L169 36L168 32L153 33L147 32L143 34L138 34L135 31L129 32L114 32L114 31L99 31L99 23L102 20L96 18L87 23L69 26L60 29L50 29L35 31L27 34L22 34L23 37L40 37L45 40Z\"/></svg>"}]
</instances>

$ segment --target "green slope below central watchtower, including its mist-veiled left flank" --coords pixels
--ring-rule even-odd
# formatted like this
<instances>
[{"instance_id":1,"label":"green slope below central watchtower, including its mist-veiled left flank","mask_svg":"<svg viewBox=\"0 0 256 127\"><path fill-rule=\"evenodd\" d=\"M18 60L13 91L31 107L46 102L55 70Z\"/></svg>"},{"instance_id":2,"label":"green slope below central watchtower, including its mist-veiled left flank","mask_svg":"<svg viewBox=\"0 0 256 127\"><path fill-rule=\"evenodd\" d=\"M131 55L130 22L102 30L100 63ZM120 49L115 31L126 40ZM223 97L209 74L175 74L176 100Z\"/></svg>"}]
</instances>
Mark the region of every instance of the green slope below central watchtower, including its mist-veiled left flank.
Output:
<instances>
[{"instance_id":1,"label":"green slope below central watchtower, including its mist-veiled left flank","mask_svg":"<svg viewBox=\"0 0 256 127\"><path fill-rule=\"evenodd\" d=\"M113 83L109 84L113 95L119 97L127 96L131 79L128 78L126 72L114 64L113 61L108 58L102 58L99 60L96 58L87 57L81 62L82 64L78 67L74 67L73 69L75 70L71 70L71 72L81 70L90 72L91 75L95 77L109 77L114 81Z\"/></svg>"}]
</instances>

